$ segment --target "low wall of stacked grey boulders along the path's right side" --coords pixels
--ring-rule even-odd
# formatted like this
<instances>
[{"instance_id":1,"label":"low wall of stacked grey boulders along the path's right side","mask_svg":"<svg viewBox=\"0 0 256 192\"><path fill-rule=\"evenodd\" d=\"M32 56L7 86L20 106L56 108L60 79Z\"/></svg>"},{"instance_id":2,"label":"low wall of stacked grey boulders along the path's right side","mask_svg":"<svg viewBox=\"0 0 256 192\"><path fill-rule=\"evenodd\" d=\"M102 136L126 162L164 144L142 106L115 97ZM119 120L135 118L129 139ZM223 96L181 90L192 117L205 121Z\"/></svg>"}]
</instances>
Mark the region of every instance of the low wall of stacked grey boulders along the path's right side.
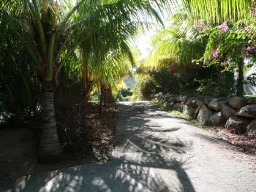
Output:
<instances>
[{"instance_id":1,"label":"low wall of stacked grey boulders along the path's right side","mask_svg":"<svg viewBox=\"0 0 256 192\"><path fill-rule=\"evenodd\" d=\"M225 127L233 134L256 136L256 98L214 98L158 93L160 103L197 119L206 126Z\"/></svg>"}]
</instances>

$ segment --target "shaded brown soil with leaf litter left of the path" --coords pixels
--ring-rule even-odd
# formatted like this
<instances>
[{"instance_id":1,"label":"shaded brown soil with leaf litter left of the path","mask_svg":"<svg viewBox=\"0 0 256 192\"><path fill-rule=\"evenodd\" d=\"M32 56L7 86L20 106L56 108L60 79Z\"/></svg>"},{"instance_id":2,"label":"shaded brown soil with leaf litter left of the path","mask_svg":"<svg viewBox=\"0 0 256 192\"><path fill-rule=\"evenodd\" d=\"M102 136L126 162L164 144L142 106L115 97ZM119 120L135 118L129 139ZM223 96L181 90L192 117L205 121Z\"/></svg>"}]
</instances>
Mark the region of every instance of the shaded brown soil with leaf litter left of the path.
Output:
<instances>
[{"instance_id":1,"label":"shaded brown soil with leaf litter left of the path","mask_svg":"<svg viewBox=\"0 0 256 192\"><path fill-rule=\"evenodd\" d=\"M86 113L86 128L90 128L90 148L79 154L64 150L59 164L37 162L37 137L33 128L0 128L0 181L27 174L37 174L70 166L106 161L113 149L113 134L116 126L116 104L103 108L98 114L98 104L89 103ZM88 139L88 137L85 137ZM88 141L87 141L88 142Z\"/></svg>"}]
</instances>

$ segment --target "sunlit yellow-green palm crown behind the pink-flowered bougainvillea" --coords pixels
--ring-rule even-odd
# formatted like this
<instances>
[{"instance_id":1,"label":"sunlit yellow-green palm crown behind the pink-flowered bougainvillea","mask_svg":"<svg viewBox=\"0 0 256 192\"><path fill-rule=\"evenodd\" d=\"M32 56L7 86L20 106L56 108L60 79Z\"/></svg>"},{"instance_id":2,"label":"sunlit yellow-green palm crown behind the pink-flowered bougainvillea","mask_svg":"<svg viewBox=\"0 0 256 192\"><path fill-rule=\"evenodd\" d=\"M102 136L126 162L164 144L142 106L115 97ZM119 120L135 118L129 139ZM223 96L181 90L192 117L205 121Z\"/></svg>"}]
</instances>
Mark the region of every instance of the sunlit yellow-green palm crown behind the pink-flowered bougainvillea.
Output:
<instances>
[{"instance_id":1,"label":"sunlit yellow-green palm crown behind the pink-flowered bougainvillea","mask_svg":"<svg viewBox=\"0 0 256 192\"><path fill-rule=\"evenodd\" d=\"M170 66L174 72L198 60L205 51L205 42L198 38L198 31L186 14L178 13L171 18L170 28L159 31L152 39L153 50L146 58L146 66Z\"/></svg>"}]
</instances>

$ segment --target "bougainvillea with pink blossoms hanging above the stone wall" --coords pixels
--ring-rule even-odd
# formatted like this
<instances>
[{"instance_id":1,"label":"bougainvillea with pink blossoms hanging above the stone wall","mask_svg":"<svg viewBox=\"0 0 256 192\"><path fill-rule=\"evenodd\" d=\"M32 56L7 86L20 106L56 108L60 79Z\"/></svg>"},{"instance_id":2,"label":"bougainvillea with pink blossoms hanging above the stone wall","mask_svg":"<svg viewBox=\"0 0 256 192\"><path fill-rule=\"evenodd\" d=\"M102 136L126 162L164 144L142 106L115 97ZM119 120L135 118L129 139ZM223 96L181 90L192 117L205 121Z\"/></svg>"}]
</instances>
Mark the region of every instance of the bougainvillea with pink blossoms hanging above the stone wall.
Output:
<instances>
[{"instance_id":1,"label":"bougainvillea with pink blossoms hanging above the stone wall","mask_svg":"<svg viewBox=\"0 0 256 192\"><path fill-rule=\"evenodd\" d=\"M223 65L236 58L256 58L254 20L224 22L214 27L206 26L199 21L195 23L201 37L208 37L206 53L202 58L205 63Z\"/></svg>"}]
</instances>

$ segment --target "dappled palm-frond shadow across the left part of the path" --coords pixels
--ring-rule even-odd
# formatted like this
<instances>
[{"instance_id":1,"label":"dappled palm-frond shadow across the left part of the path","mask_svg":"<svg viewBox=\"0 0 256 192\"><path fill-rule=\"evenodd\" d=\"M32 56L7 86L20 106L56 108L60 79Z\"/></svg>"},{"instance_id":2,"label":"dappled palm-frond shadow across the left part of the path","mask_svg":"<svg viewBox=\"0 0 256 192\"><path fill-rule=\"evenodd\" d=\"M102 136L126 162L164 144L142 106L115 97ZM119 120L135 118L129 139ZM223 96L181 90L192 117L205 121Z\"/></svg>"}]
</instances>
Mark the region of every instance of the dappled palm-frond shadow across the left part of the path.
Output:
<instances>
[{"instance_id":1,"label":"dappled palm-frond shadow across the left part of the path","mask_svg":"<svg viewBox=\"0 0 256 192\"><path fill-rule=\"evenodd\" d=\"M165 134L180 128L151 122L160 117L172 118L144 102L120 104L111 161L22 177L0 183L3 186L0 191L193 192L195 189L184 169L189 163L182 158L192 142L167 139Z\"/></svg>"}]
</instances>

